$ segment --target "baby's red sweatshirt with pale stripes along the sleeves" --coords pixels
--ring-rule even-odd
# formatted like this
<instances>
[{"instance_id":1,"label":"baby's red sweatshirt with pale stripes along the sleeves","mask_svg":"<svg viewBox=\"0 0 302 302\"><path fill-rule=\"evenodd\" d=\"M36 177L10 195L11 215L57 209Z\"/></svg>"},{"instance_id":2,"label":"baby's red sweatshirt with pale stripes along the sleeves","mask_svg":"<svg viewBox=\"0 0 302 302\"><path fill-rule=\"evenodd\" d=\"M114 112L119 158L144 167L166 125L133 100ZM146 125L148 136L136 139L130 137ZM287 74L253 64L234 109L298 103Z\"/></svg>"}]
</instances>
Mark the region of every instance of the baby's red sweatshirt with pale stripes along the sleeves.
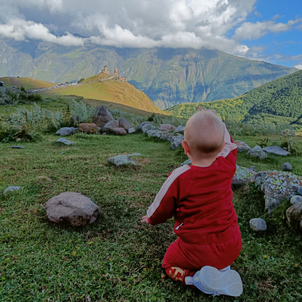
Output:
<instances>
[{"instance_id":1,"label":"baby's red sweatshirt with pale stripes along the sleeves","mask_svg":"<svg viewBox=\"0 0 302 302\"><path fill-rule=\"evenodd\" d=\"M226 127L224 140L226 145L212 165L185 165L172 171L147 211L150 224L174 215L174 232L186 243L223 243L236 235L231 184L237 145Z\"/></svg>"}]
</instances>

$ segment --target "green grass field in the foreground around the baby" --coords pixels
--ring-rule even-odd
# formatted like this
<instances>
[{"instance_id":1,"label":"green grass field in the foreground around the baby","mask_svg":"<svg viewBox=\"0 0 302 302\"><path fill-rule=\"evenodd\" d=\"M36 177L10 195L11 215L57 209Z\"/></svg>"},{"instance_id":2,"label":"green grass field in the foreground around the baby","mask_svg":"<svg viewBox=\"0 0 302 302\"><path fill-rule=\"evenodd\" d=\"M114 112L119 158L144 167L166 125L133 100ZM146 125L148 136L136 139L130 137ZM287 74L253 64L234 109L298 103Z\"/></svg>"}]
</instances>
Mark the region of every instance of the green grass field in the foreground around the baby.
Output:
<instances>
[{"instance_id":1,"label":"green grass field in the foreground around the baby","mask_svg":"<svg viewBox=\"0 0 302 302\"><path fill-rule=\"evenodd\" d=\"M264 137L234 137L250 146ZM124 137L75 134L73 146L53 143L0 144L1 301L299 301L302 299L302 242L285 226L285 202L271 216L257 188L234 189L233 203L243 249L233 264L244 284L240 297L211 297L169 279L161 282L162 258L176 239L173 222L140 224L169 172L186 157L169 142L145 134ZM297 138L302 149L302 139ZM140 165L114 168L118 154L141 153ZM238 164L278 169L284 161L302 174L301 155L266 160L238 154ZM63 191L81 192L100 207L95 223L62 229L47 219L45 204ZM268 230L255 233L249 220L263 217Z\"/></svg>"}]
</instances>

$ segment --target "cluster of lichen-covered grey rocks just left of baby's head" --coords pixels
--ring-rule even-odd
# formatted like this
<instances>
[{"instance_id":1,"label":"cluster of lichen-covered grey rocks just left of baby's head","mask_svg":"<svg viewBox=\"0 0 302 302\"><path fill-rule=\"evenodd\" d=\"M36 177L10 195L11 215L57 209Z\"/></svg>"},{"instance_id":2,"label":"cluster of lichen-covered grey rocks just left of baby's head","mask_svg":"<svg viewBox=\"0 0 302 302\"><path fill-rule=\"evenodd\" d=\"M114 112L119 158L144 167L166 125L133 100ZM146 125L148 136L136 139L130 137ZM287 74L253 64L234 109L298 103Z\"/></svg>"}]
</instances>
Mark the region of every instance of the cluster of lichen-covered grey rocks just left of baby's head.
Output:
<instances>
[{"instance_id":1,"label":"cluster of lichen-covered grey rocks just left of baby's head","mask_svg":"<svg viewBox=\"0 0 302 302\"><path fill-rule=\"evenodd\" d=\"M150 122L143 122L139 124L137 131L147 133L148 137L168 140L171 143L171 149L176 149L182 145L182 140L184 140L185 126L175 127L172 124L160 124L159 127L155 127Z\"/></svg>"}]
</instances>

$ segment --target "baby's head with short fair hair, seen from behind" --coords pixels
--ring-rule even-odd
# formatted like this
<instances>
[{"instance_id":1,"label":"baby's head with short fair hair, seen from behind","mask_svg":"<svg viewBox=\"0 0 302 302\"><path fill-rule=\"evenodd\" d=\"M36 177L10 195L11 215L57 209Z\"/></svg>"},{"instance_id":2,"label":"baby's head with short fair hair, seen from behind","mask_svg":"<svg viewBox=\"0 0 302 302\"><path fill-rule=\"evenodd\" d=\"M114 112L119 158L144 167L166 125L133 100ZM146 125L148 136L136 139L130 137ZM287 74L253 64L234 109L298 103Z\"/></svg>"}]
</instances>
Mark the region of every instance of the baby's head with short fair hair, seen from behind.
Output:
<instances>
[{"instance_id":1,"label":"baby's head with short fair hair, seen from behind","mask_svg":"<svg viewBox=\"0 0 302 302\"><path fill-rule=\"evenodd\" d=\"M194 158L214 157L224 146L224 125L213 111L193 114L185 127L185 141Z\"/></svg>"}]
</instances>

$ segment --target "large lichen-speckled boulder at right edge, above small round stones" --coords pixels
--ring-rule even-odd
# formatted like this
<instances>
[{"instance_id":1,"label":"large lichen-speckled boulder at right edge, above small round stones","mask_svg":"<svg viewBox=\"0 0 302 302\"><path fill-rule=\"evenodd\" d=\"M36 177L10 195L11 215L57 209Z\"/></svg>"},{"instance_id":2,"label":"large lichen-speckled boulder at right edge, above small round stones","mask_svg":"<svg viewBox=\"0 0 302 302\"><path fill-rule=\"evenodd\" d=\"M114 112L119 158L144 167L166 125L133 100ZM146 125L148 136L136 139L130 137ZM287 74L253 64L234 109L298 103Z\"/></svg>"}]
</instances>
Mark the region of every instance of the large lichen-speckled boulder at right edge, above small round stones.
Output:
<instances>
[{"instance_id":1,"label":"large lichen-speckled boulder at right edge, above small round stones","mask_svg":"<svg viewBox=\"0 0 302 302\"><path fill-rule=\"evenodd\" d=\"M283 199L290 199L297 194L297 189L302 185L302 176L290 172L260 171L252 175L251 182L260 186L264 194L265 209L271 213Z\"/></svg>"}]
</instances>

